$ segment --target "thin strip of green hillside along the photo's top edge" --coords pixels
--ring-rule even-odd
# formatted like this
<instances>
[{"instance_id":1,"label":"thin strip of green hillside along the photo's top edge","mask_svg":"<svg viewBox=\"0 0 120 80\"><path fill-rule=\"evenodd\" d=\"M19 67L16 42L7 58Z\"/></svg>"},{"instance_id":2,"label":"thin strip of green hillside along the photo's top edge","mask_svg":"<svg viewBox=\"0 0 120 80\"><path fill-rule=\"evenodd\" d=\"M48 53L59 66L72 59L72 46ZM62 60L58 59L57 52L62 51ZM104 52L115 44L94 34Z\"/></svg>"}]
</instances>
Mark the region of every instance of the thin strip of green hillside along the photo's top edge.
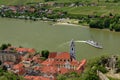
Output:
<instances>
[{"instance_id":1,"label":"thin strip of green hillside along the photo's top edge","mask_svg":"<svg viewBox=\"0 0 120 80\"><path fill-rule=\"evenodd\" d=\"M119 0L0 0L0 5L14 5L14 4L26 4L26 3L34 3L34 2L44 2L44 1L53 1L57 3L73 3L73 2L84 2L84 3L101 3L102 4L105 1L113 2L113 1L119 1Z\"/></svg>"}]
</instances>

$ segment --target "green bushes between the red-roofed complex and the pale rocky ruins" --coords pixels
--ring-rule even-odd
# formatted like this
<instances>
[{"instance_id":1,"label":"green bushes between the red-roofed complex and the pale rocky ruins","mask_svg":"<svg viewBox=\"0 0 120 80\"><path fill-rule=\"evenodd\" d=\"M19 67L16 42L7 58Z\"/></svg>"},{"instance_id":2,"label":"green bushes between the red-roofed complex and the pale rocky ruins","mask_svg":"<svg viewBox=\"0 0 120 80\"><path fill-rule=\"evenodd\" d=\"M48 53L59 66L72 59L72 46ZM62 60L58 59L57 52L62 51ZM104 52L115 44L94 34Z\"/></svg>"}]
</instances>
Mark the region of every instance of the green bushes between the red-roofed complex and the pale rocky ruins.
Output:
<instances>
[{"instance_id":1,"label":"green bushes between the red-roofed complex and the pale rocky ruins","mask_svg":"<svg viewBox=\"0 0 120 80\"><path fill-rule=\"evenodd\" d=\"M107 59L109 56L101 56L98 58L95 58L94 60L89 60L87 64L87 71L86 76L84 80L99 80L99 77L97 75L97 70L101 71L102 73L108 72L108 70L105 68L105 64L107 63Z\"/></svg>"}]
</instances>

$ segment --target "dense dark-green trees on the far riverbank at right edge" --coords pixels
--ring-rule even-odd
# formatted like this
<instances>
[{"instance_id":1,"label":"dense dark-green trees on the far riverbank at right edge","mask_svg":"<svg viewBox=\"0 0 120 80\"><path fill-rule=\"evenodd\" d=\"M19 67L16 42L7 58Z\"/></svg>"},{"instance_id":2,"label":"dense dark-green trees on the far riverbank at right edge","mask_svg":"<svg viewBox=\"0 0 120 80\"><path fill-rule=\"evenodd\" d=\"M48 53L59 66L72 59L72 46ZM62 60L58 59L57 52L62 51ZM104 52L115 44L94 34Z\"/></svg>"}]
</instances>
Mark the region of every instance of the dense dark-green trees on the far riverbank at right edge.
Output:
<instances>
[{"instance_id":1,"label":"dense dark-green trees on the far riverbank at right edge","mask_svg":"<svg viewBox=\"0 0 120 80\"><path fill-rule=\"evenodd\" d=\"M90 28L109 28L111 31L120 31L120 21L119 16L115 16L114 18L97 18L91 20L89 23Z\"/></svg>"}]
</instances>

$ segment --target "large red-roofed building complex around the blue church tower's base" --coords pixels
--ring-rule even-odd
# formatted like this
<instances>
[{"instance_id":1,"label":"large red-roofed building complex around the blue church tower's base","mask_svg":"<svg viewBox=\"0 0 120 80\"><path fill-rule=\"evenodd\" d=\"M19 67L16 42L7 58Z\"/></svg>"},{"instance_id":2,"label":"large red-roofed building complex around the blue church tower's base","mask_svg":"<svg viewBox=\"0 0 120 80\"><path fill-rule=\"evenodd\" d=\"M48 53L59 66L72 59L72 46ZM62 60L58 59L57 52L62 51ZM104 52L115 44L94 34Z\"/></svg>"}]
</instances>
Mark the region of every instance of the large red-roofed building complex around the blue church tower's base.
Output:
<instances>
[{"instance_id":1,"label":"large red-roofed building complex around the blue church tower's base","mask_svg":"<svg viewBox=\"0 0 120 80\"><path fill-rule=\"evenodd\" d=\"M41 63L43 65L41 71L47 74L65 74L71 71L81 72L84 70L86 62L86 59L81 62L71 59L68 52L50 53L49 58Z\"/></svg>"}]
</instances>

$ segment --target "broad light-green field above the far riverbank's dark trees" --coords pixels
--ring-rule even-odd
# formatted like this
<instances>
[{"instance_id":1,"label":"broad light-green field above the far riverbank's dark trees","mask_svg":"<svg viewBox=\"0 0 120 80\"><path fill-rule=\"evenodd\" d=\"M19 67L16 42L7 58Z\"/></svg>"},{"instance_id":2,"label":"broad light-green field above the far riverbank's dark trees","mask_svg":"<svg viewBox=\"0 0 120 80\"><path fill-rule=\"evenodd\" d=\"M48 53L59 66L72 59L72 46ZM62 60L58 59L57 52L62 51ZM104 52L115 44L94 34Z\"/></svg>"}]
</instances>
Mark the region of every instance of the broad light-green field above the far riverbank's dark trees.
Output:
<instances>
[{"instance_id":1,"label":"broad light-green field above the far riverbank's dark trees","mask_svg":"<svg viewBox=\"0 0 120 80\"><path fill-rule=\"evenodd\" d=\"M69 14L82 15L107 15L109 13L119 14L120 6L84 6L84 7L64 7L57 8L59 10L67 11Z\"/></svg>"}]
</instances>

